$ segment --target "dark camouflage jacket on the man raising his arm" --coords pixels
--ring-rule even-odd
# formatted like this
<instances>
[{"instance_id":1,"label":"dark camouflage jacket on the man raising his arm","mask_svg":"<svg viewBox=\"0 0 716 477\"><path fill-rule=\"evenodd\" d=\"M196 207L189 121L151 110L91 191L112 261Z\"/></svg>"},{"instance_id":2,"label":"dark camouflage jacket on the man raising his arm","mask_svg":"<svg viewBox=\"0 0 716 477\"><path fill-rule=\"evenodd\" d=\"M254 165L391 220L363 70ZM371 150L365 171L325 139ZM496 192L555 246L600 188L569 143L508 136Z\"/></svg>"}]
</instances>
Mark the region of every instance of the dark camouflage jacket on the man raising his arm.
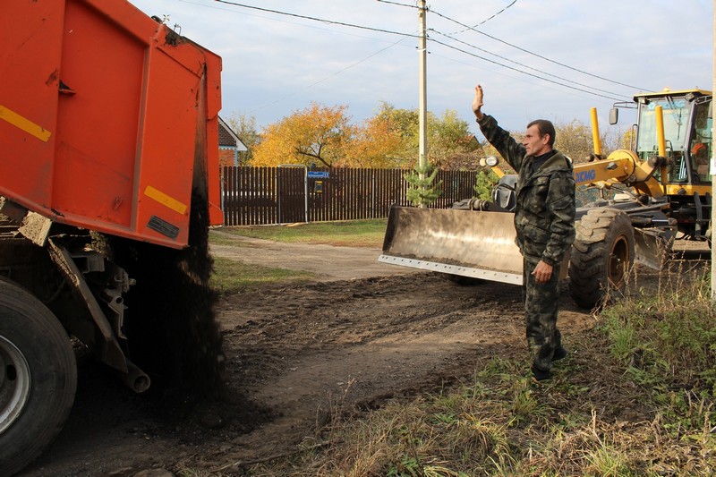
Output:
<instances>
[{"instance_id":1,"label":"dark camouflage jacket on the man raising his arm","mask_svg":"<svg viewBox=\"0 0 716 477\"><path fill-rule=\"evenodd\" d=\"M518 174L515 229L526 260L561 263L575 240L575 179L572 163L561 152L530 173L533 156L500 128L490 115L478 121L490 144Z\"/></svg>"}]
</instances>

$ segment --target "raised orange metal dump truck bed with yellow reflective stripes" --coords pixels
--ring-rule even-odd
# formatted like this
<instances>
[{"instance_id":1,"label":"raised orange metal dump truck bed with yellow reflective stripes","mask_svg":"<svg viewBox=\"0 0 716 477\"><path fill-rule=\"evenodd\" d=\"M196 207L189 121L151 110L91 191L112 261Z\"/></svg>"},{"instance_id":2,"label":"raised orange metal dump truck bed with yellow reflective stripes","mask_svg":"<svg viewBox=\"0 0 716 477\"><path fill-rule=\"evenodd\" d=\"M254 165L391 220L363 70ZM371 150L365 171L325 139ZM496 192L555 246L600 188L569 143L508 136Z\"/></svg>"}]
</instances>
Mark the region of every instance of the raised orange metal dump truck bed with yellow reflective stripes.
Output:
<instances>
[{"instance_id":1,"label":"raised orange metal dump truck bed with yellow reflective stripes","mask_svg":"<svg viewBox=\"0 0 716 477\"><path fill-rule=\"evenodd\" d=\"M200 187L210 223L222 222L217 55L124 0L4 8L0 196L55 222L182 248Z\"/></svg>"}]
</instances>

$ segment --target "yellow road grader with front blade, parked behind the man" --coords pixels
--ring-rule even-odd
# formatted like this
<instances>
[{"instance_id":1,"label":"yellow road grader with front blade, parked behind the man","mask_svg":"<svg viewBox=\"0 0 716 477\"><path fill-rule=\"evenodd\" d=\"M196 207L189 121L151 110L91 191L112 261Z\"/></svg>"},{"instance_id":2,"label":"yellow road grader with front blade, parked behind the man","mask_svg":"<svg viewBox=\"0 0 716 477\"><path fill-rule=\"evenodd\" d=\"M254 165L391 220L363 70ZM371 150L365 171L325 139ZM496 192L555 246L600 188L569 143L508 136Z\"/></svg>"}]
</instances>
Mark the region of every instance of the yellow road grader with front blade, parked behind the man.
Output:
<instances>
[{"instance_id":1,"label":"yellow road grader with front blade, parked behind the man","mask_svg":"<svg viewBox=\"0 0 716 477\"><path fill-rule=\"evenodd\" d=\"M635 263L660 269L674 240L711 245L712 92L688 89L639 93L619 108L635 108L633 147L601 154L592 109L594 153L575 164L578 189L600 198L577 209L576 238L562 266L575 303L599 306L626 287ZM492 201L462 200L452 209L393 207L379 260L445 273L455 281L522 285L522 258L513 224L516 175L498 158L484 159L498 175ZM568 263L567 263L568 262Z\"/></svg>"}]
</instances>

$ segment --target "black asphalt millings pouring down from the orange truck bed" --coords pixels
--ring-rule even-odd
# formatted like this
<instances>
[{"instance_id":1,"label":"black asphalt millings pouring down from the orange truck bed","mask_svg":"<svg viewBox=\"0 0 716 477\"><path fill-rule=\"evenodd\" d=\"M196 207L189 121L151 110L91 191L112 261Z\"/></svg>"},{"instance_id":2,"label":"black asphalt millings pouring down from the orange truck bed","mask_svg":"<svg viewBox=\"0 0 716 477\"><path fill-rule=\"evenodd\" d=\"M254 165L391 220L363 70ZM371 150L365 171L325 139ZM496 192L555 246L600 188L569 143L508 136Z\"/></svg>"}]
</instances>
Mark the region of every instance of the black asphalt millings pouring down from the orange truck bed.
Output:
<instances>
[{"instance_id":1,"label":"black asphalt millings pouring down from the orange truck bed","mask_svg":"<svg viewBox=\"0 0 716 477\"><path fill-rule=\"evenodd\" d=\"M225 356L209 287L209 208L192 194L189 247L170 249L105 237L111 260L136 280L125 296L130 360L149 374L149 393L218 397Z\"/></svg>"}]
</instances>

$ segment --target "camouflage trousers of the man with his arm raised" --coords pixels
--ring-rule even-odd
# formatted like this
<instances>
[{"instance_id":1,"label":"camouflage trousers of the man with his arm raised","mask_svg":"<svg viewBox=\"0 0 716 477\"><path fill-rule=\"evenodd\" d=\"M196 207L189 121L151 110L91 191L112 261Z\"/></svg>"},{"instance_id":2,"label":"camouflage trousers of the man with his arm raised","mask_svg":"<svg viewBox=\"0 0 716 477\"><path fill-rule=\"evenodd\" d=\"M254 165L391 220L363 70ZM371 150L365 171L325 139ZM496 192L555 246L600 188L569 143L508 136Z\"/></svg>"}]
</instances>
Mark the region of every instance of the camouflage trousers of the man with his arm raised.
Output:
<instances>
[{"instance_id":1,"label":"camouflage trousers of the man with his arm raised","mask_svg":"<svg viewBox=\"0 0 716 477\"><path fill-rule=\"evenodd\" d=\"M559 265L555 265L549 282L537 284L532 275L537 262L523 260L523 263L522 293L527 345L533 366L540 371L550 371L552 356L562 345L562 335L557 328Z\"/></svg>"}]
</instances>

